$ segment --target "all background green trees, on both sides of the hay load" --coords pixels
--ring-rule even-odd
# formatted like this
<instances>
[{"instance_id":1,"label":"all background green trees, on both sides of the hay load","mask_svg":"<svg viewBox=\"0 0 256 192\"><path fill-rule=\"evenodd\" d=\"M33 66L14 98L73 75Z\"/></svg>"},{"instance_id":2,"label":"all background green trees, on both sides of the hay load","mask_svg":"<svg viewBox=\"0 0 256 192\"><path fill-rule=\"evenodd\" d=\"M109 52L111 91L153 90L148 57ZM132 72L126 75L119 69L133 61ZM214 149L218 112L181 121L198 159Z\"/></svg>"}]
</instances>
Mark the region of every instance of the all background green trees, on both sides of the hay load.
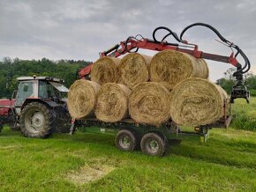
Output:
<instances>
[{"instance_id":1,"label":"all background green trees, on both sides of the hay load","mask_svg":"<svg viewBox=\"0 0 256 192\"><path fill-rule=\"evenodd\" d=\"M20 60L19 58L11 59L4 57L0 61L0 98L11 98L11 93L18 88L16 78L21 76L42 76L63 78L64 85L70 87L72 83L78 78L78 71L86 67L88 61L74 61L74 60L59 60L51 61L47 58L41 60ZM217 85L230 94L236 79L232 76L235 68L227 70L223 77L216 81ZM246 85L252 96L256 96L256 75L252 72L245 75Z\"/></svg>"}]
</instances>

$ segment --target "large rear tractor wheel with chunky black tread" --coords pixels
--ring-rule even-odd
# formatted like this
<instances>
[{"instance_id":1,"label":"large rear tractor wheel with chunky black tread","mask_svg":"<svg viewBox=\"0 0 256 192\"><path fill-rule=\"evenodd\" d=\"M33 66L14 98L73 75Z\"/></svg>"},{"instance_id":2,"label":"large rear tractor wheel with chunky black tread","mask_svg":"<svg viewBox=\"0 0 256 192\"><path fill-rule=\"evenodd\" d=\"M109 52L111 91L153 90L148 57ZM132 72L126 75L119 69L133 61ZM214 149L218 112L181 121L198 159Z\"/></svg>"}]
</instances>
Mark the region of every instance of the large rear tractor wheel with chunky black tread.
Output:
<instances>
[{"instance_id":1,"label":"large rear tractor wheel with chunky black tread","mask_svg":"<svg viewBox=\"0 0 256 192\"><path fill-rule=\"evenodd\" d=\"M19 125L25 137L49 137L55 128L55 113L42 103L32 102L21 111Z\"/></svg>"}]
</instances>

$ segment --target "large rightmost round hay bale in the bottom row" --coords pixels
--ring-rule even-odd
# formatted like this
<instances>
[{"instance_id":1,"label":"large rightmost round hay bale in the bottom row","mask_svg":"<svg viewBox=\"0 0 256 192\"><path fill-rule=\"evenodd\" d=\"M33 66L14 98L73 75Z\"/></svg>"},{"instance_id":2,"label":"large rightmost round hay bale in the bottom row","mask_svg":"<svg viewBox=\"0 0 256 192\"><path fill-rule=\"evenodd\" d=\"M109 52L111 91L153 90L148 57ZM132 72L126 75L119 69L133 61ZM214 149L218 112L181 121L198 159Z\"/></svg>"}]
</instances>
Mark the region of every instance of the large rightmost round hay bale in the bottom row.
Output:
<instances>
[{"instance_id":1,"label":"large rightmost round hay bale in the bottom row","mask_svg":"<svg viewBox=\"0 0 256 192\"><path fill-rule=\"evenodd\" d=\"M218 85L202 78L187 78L170 93L170 116L186 126L207 125L223 116L227 93Z\"/></svg>"}]
</instances>

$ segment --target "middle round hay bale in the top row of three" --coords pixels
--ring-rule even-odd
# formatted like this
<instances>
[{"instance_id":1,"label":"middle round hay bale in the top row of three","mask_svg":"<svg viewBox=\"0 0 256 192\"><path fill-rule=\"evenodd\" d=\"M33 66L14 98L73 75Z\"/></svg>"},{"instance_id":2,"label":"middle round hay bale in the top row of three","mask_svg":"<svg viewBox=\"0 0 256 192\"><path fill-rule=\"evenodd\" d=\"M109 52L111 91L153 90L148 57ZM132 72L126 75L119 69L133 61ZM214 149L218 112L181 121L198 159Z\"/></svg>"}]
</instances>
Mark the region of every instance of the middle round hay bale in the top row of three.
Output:
<instances>
[{"instance_id":1,"label":"middle round hay bale in the top row of three","mask_svg":"<svg viewBox=\"0 0 256 192\"><path fill-rule=\"evenodd\" d=\"M132 53L125 55L117 67L118 83L128 86L148 81L148 66L151 56Z\"/></svg>"}]
</instances>

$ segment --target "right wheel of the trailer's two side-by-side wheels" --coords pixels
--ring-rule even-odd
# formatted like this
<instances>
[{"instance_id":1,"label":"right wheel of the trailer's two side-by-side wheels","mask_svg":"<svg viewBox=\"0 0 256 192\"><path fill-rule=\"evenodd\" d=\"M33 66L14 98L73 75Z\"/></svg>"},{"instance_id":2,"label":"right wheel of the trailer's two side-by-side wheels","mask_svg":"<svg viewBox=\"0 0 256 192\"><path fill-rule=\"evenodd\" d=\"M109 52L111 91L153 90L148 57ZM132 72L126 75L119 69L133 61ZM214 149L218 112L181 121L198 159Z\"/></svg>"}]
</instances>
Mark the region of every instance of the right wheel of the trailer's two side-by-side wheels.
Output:
<instances>
[{"instance_id":1,"label":"right wheel of the trailer's two side-by-side wheels","mask_svg":"<svg viewBox=\"0 0 256 192\"><path fill-rule=\"evenodd\" d=\"M157 133L150 132L141 138L140 148L147 155L163 156L168 151L168 140Z\"/></svg>"}]
</instances>

